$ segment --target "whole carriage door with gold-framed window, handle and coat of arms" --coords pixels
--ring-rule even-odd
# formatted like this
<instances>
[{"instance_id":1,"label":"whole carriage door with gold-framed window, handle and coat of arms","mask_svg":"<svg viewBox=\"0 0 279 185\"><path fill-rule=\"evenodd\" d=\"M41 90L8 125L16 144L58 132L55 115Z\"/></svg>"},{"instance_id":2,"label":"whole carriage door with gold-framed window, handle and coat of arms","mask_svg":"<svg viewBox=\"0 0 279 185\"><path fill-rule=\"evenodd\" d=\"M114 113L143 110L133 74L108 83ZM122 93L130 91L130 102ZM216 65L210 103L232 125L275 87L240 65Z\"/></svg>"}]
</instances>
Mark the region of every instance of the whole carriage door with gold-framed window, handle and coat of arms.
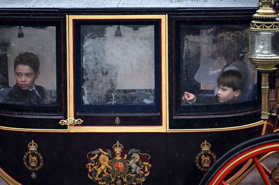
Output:
<instances>
[{"instance_id":1,"label":"whole carriage door with gold-framed window, handle and coat of arms","mask_svg":"<svg viewBox=\"0 0 279 185\"><path fill-rule=\"evenodd\" d=\"M155 183L162 173L167 181L152 160L167 146L165 25L165 15L69 16L63 122L71 124L72 166L83 169L75 173L88 176L82 182ZM151 173L152 161L159 168Z\"/></svg>"}]
</instances>

